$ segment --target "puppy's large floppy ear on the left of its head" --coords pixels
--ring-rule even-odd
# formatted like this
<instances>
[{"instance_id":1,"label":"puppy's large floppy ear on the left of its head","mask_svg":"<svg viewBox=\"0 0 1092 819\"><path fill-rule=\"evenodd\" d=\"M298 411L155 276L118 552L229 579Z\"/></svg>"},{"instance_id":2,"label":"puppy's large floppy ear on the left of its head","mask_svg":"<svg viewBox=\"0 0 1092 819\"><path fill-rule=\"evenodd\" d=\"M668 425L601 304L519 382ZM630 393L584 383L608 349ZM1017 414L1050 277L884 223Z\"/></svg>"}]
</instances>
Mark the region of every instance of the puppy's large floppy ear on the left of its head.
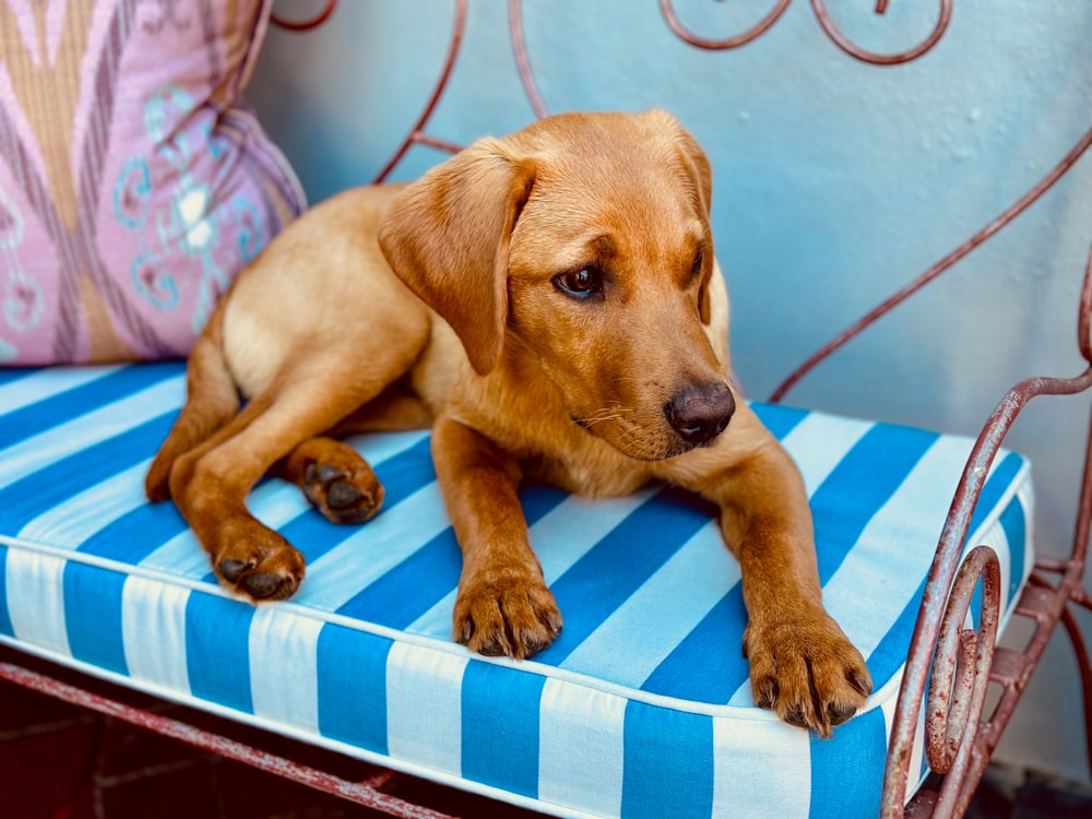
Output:
<instances>
[{"instance_id":1,"label":"puppy's large floppy ear on the left of its head","mask_svg":"<svg viewBox=\"0 0 1092 819\"><path fill-rule=\"evenodd\" d=\"M484 139L400 193L379 229L397 276L455 331L475 371L497 366L508 321L508 250L534 170Z\"/></svg>"}]
</instances>

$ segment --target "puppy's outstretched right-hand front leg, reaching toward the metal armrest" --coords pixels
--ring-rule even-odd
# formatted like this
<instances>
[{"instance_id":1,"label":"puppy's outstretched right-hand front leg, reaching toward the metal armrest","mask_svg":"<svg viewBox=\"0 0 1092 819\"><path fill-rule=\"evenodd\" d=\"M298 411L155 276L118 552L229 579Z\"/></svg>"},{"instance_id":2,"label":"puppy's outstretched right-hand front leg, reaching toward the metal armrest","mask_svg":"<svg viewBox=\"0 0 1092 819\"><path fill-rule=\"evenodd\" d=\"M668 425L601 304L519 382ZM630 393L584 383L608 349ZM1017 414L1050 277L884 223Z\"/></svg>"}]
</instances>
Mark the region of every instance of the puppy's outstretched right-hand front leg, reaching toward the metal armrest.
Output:
<instances>
[{"instance_id":1,"label":"puppy's outstretched right-hand front leg, reaching toward the metal armrest","mask_svg":"<svg viewBox=\"0 0 1092 819\"><path fill-rule=\"evenodd\" d=\"M829 737L864 704L871 677L823 608L811 513L796 465L746 407L732 424L723 442L691 453L678 483L720 506L721 531L739 559L748 616L743 650L755 702Z\"/></svg>"}]
</instances>

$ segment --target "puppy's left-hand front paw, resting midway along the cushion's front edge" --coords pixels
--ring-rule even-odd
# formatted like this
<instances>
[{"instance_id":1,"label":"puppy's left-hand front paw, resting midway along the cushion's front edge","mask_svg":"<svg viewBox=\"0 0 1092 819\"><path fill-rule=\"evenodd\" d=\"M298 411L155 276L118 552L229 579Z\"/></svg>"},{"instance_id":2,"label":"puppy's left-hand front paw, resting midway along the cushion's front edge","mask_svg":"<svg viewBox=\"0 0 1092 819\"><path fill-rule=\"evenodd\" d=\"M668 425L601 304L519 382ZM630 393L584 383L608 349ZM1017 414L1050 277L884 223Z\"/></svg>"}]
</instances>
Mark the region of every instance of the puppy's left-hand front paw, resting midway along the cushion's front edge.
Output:
<instances>
[{"instance_id":1,"label":"puppy's left-hand front paw, resting midway along the cushion's front edge","mask_svg":"<svg viewBox=\"0 0 1092 819\"><path fill-rule=\"evenodd\" d=\"M561 613L546 584L522 573L498 573L461 587L454 637L488 656L530 657L561 631Z\"/></svg>"}]
</instances>

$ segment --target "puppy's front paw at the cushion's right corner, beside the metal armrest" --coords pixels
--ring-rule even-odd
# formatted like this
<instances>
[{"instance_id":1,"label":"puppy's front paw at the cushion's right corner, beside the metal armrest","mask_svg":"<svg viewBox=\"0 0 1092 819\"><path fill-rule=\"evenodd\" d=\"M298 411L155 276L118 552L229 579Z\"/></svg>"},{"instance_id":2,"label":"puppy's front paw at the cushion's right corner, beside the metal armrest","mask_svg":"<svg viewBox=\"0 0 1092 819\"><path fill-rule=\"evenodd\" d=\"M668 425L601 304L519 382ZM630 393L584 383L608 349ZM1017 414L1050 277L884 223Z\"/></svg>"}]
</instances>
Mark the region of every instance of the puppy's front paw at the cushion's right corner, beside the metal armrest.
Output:
<instances>
[{"instance_id":1,"label":"puppy's front paw at the cushion's right corner, beside the metal armrest","mask_svg":"<svg viewBox=\"0 0 1092 819\"><path fill-rule=\"evenodd\" d=\"M822 610L765 627L751 622L744 654L755 702L823 737L853 716L873 690L860 652Z\"/></svg>"}]
</instances>

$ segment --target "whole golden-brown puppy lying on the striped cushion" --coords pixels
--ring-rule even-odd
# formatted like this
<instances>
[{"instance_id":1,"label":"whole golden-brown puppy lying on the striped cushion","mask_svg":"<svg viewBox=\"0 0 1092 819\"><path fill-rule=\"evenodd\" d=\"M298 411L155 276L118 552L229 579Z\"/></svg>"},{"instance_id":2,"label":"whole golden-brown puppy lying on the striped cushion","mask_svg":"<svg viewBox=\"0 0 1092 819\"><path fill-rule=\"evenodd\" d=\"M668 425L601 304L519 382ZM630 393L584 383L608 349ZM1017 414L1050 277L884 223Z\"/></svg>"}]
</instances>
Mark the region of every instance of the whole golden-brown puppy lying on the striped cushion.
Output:
<instances>
[{"instance_id":1,"label":"whole golden-brown puppy lying on the striped cushion","mask_svg":"<svg viewBox=\"0 0 1092 819\"><path fill-rule=\"evenodd\" d=\"M174 498L225 585L286 597L304 560L247 511L251 487L272 468L330 520L367 520L382 487L336 439L431 425L463 550L454 638L526 657L561 615L521 478L592 496L672 482L720 506L755 701L829 735L871 680L822 607L803 482L734 397L710 197L698 144L648 111L551 117L314 207L198 340L149 497Z\"/></svg>"}]
</instances>

